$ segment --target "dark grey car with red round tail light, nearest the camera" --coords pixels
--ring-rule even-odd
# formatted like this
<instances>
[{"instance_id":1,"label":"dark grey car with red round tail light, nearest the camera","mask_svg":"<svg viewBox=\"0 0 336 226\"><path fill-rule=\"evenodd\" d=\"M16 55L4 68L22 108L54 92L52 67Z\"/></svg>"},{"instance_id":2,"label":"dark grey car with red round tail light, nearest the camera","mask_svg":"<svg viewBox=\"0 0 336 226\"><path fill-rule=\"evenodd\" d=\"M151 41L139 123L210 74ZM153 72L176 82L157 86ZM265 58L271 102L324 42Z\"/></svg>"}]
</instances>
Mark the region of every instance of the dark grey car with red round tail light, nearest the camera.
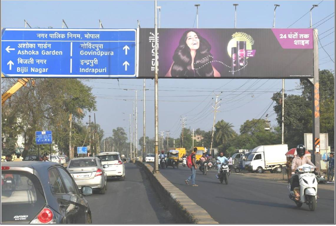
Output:
<instances>
[{"instance_id":1,"label":"dark grey car with red round tail light, nearest the camera","mask_svg":"<svg viewBox=\"0 0 336 226\"><path fill-rule=\"evenodd\" d=\"M57 163L2 162L1 185L1 223L92 223L83 197L92 194L92 188L84 186L80 192L67 170Z\"/></svg>"}]
</instances>

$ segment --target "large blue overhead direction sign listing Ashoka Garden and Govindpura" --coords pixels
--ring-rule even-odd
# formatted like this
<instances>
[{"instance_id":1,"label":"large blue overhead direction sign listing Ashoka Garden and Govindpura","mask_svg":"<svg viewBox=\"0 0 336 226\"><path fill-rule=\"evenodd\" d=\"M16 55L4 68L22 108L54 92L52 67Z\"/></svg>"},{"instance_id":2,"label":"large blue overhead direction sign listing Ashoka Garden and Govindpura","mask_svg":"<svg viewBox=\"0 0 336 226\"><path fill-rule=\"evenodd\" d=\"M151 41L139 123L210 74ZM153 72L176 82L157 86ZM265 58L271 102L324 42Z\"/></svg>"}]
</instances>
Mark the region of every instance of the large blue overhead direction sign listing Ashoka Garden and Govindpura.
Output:
<instances>
[{"instance_id":1,"label":"large blue overhead direction sign listing Ashoka Garden and Govindpura","mask_svg":"<svg viewBox=\"0 0 336 226\"><path fill-rule=\"evenodd\" d=\"M136 77L136 29L6 28L1 33L5 77Z\"/></svg>"}]
</instances>

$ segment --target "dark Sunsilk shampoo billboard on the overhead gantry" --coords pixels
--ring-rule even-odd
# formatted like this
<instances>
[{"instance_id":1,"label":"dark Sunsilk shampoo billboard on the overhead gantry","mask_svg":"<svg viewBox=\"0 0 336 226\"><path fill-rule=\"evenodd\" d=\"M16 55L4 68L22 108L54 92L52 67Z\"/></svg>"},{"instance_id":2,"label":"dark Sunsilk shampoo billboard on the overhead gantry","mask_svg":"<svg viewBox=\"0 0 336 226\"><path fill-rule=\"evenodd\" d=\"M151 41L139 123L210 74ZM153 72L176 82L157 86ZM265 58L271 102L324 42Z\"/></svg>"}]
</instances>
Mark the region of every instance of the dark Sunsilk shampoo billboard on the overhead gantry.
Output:
<instances>
[{"instance_id":1,"label":"dark Sunsilk shampoo billboard on the overhead gantry","mask_svg":"<svg viewBox=\"0 0 336 226\"><path fill-rule=\"evenodd\" d=\"M138 78L154 78L154 28L138 29ZM313 77L313 29L158 29L159 78Z\"/></svg>"}]
</instances>

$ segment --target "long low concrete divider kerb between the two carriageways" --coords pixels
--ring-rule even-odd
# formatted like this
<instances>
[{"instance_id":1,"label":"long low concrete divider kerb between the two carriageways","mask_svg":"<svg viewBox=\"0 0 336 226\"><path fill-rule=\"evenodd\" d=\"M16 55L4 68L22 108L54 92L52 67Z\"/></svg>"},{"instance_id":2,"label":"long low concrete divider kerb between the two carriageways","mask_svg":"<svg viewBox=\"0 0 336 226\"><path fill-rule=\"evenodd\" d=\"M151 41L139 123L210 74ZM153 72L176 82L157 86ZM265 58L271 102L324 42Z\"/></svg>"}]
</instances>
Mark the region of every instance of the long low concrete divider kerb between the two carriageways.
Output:
<instances>
[{"instance_id":1,"label":"long low concrete divider kerb between the two carriageways","mask_svg":"<svg viewBox=\"0 0 336 226\"><path fill-rule=\"evenodd\" d=\"M135 161L135 164L143 168L155 191L159 194L177 223L218 224L208 212L175 187L161 173L153 174L153 167L151 165L140 161Z\"/></svg>"}]
</instances>

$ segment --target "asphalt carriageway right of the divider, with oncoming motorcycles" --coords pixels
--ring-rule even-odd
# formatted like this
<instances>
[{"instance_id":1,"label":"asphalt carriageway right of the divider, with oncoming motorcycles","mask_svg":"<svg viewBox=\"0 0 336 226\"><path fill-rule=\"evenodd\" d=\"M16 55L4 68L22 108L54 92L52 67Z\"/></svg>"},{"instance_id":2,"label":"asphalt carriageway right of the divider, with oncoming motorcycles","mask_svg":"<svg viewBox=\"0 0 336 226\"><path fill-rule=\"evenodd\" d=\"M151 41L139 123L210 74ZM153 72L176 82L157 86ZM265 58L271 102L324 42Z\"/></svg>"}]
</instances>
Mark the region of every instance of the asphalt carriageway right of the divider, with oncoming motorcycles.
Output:
<instances>
[{"instance_id":1,"label":"asphalt carriageway right of the divider, with oncoming motorcycles","mask_svg":"<svg viewBox=\"0 0 336 226\"><path fill-rule=\"evenodd\" d=\"M220 224L333 224L335 216L334 191L319 189L317 207L296 208L288 197L286 183L248 178L231 174L228 185L220 184L217 170L208 175L196 171L198 187L187 186L184 180L191 175L187 167L160 169L177 188L205 209ZM191 183L189 183L191 184Z\"/></svg>"}]
</instances>

